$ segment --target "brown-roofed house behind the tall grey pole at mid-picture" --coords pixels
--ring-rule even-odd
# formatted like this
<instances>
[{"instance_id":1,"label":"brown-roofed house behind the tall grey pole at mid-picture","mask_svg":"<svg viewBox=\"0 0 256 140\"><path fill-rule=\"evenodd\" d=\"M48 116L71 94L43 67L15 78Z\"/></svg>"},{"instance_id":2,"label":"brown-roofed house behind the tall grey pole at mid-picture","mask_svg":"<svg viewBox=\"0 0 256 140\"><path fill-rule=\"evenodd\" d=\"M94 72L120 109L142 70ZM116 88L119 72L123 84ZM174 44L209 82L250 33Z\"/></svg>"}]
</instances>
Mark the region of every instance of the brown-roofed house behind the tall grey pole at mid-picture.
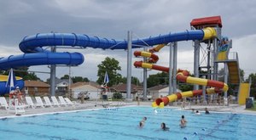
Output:
<instances>
[{"instance_id":1,"label":"brown-roofed house behind the tall grey pole at mid-picture","mask_svg":"<svg viewBox=\"0 0 256 140\"><path fill-rule=\"evenodd\" d=\"M111 92L119 92L122 94L123 98L126 98L126 87L127 85L124 83L120 83L118 85L114 85L111 88ZM134 84L131 84L131 98L136 99L137 93L142 94L143 87L142 86L136 86Z\"/></svg>"}]
</instances>

